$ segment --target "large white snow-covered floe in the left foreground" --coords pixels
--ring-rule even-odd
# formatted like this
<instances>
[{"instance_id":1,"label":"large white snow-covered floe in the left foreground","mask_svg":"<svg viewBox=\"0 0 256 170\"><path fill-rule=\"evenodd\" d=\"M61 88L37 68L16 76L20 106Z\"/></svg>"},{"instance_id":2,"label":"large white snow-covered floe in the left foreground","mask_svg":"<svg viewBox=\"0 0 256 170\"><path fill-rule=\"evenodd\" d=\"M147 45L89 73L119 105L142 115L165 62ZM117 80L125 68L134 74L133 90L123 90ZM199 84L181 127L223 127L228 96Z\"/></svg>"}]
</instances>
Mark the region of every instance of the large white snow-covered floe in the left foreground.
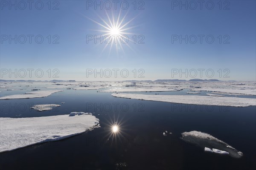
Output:
<instances>
[{"instance_id":1,"label":"large white snow-covered floe in the left foreground","mask_svg":"<svg viewBox=\"0 0 256 170\"><path fill-rule=\"evenodd\" d=\"M73 113L72 113L73 114ZM29 118L0 118L0 152L56 141L92 130L99 119L90 113Z\"/></svg>"}]
</instances>

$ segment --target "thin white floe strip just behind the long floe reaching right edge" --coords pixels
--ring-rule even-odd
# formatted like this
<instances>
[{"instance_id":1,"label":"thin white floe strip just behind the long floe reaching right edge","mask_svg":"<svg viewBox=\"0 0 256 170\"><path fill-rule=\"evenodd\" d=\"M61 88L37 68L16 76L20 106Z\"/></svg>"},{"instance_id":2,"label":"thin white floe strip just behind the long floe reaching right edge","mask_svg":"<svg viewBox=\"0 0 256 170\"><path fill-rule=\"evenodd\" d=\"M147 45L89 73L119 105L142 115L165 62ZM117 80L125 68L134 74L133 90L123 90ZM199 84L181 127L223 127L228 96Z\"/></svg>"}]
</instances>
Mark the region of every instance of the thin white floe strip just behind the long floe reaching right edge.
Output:
<instances>
[{"instance_id":1,"label":"thin white floe strip just behind the long floe reaching right edge","mask_svg":"<svg viewBox=\"0 0 256 170\"><path fill-rule=\"evenodd\" d=\"M161 91L181 91L181 88L113 88L99 92L161 92Z\"/></svg>"}]
</instances>

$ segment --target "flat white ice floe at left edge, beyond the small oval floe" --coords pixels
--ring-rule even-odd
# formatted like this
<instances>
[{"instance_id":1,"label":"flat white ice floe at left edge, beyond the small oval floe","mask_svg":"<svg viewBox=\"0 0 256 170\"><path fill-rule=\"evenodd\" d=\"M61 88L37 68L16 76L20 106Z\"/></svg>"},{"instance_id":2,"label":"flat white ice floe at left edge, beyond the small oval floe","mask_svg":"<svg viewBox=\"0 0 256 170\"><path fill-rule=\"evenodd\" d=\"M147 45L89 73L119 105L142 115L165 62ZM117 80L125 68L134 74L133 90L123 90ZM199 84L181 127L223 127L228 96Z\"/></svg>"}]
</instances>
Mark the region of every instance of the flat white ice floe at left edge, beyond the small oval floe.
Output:
<instances>
[{"instance_id":1,"label":"flat white ice floe at left edge, beyond the small oval floe","mask_svg":"<svg viewBox=\"0 0 256 170\"><path fill-rule=\"evenodd\" d=\"M25 94L15 94L10 96L3 96L0 99L29 99L29 98L38 98L38 97L47 97L53 93L59 92L62 90L55 91L33 91Z\"/></svg>"}]
</instances>

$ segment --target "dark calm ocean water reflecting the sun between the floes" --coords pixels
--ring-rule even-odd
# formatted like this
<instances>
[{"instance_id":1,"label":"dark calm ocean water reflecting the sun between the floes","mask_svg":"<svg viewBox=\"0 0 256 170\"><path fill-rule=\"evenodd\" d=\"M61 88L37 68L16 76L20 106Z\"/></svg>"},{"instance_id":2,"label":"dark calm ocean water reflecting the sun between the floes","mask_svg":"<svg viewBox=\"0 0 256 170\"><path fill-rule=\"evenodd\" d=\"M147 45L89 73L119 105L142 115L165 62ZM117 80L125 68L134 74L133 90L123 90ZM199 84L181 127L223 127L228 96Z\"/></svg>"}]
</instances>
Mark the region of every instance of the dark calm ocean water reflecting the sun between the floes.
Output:
<instances>
[{"instance_id":1,"label":"dark calm ocean water reflecting the sun between the floes","mask_svg":"<svg viewBox=\"0 0 256 170\"><path fill-rule=\"evenodd\" d=\"M53 116L83 111L93 113L101 126L60 141L0 153L1 170L256 168L255 106L185 105L122 99L95 90L66 89L45 98L0 102L1 117ZM61 107L43 112L29 108L38 103L56 103ZM117 136L110 135L112 122L119 125ZM209 133L241 151L244 156L236 159L206 153L201 147L183 142L181 133L192 130ZM167 136L163 136L165 131L168 131Z\"/></svg>"}]
</instances>

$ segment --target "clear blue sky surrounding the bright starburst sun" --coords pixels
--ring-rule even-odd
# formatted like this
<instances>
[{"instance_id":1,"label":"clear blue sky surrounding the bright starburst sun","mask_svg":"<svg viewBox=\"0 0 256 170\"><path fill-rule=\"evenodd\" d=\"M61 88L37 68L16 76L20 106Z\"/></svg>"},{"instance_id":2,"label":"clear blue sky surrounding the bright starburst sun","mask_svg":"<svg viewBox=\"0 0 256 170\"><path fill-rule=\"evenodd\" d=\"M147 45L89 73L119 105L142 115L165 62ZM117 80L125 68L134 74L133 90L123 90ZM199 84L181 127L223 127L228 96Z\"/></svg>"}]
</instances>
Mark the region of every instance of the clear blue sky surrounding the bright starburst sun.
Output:
<instances>
[{"instance_id":1,"label":"clear blue sky surrounding the bright starburst sun","mask_svg":"<svg viewBox=\"0 0 256 170\"><path fill-rule=\"evenodd\" d=\"M180 1L167 0L145 0L143 3L137 1L134 9L132 0L125 1L125 4L129 5L128 9L124 9L124 3L121 8L122 1L118 1L117 8L115 9L114 4L111 3L112 8L109 10L104 9L108 8L104 6L104 1L101 1L102 9L88 6L89 1L85 0L52 1L51 6L48 0L42 0L37 4L39 7L36 8L33 3L31 9L29 4L26 4L26 8L23 4L17 4L15 9L15 6L9 6L9 3L15 1L5 2L7 5L1 1L0 10L1 79L118 81L202 78L256 81L255 0L230 0L221 3L213 0L210 1L214 4L212 9L210 9L212 3L207 3L208 1L202 4L201 9L199 3L195 9L192 9L194 4L189 4L190 1L182 1L184 4L188 3L186 9L186 6L177 4ZM95 3L95 1L90 2L93 5ZM39 10L41 3L44 6ZM54 6L57 6L58 10L53 10ZM144 9L139 10L139 6L143 6ZM113 45L110 50L109 44L103 51L105 43L95 44L93 41L87 43L88 35L99 36L105 33L96 30L106 30L92 20L104 24L99 18L102 17L110 25L107 14L111 20L113 15L116 21L120 11L120 20L127 14L123 23L135 17L124 27L131 27L125 30L131 33L128 35L130 47L121 44L122 50L118 44L116 51L116 46ZM15 40L11 40L10 43L9 36L15 37L15 35L17 35L17 44ZM23 35L27 38L22 44ZM31 43L27 35L33 35ZM44 42L37 43L35 41L37 35L40 35L39 38L43 37ZM144 44L137 43L140 35L144 37ZM185 38L186 35L188 43L186 40L182 40L181 43L179 39L174 40L175 37ZM202 43L199 35L203 36ZM51 37L50 43L48 36ZM137 38L136 44L132 42L133 36ZM214 41L207 42L207 36L213 37ZM192 43L194 37L198 39ZM54 40L58 44L52 43ZM15 72L15 69L17 72L22 69L34 69L34 71L41 69L44 76L36 77L34 71L32 77L28 76L29 71L26 72L25 77L19 77L18 73L15 77L15 74L9 75L4 72L6 70ZM50 76L49 69L52 73ZM54 69L58 69L59 78L52 77L57 73L53 72ZM101 78L99 74L86 74L88 69L93 71L102 69L102 72L110 69L112 76L107 77L102 73ZM119 71L126 69L129 76L126 78L120 76L118 71L117 76L114 77L113 69ZM134 69L137 72L135 77ZM138 77L142 73L138 71L139 69L143 69L144 78ZM204 69L202 77L199 76L198 69ZM177 74L172 74L177 70L179 71ZM195 70L197 76L193 77ZM213 72L214 76L209 76L207 70ZM180 75L180 71L187 71L187 75ZM226 77L224 74L227 74Z\"/></svg>"}]
</instances>

